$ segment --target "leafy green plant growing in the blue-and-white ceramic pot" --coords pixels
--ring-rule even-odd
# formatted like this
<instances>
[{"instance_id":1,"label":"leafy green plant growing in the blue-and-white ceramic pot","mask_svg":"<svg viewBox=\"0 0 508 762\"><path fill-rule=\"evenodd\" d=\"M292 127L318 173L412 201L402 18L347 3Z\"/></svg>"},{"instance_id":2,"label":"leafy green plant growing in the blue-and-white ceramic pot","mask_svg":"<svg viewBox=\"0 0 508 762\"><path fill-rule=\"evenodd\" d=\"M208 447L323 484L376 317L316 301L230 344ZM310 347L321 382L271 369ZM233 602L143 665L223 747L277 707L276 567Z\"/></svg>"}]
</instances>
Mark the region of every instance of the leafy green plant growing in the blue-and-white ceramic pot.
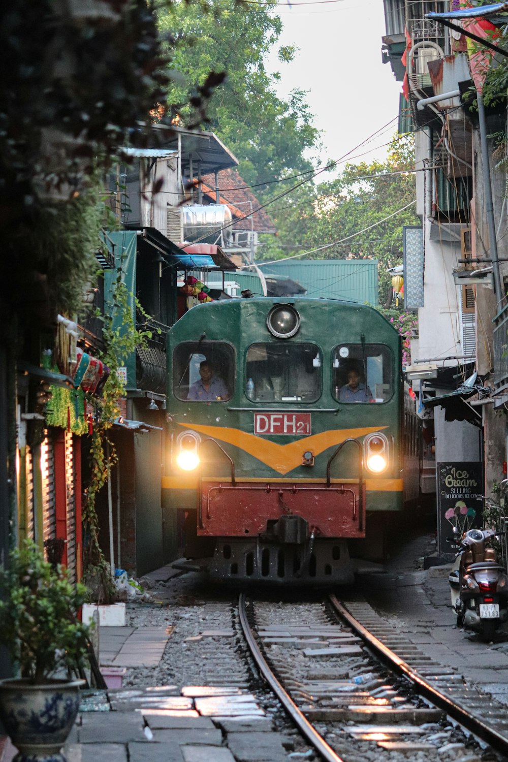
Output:
<instances>
[{"instance_id":1,"label":"leafy green plant growing in the blue-and-white ceramic pot","mask_svg":"<svg viewBox=\"0 0 508 762\"><path fill-rule=\"evenodd\" d=\"M76 618L86 588L44 560L30 540L0 571L0 642L18 662L21 677L46 682L56 668L75 668L86 654L88 627Z\"/></svg>"}]
</instances>

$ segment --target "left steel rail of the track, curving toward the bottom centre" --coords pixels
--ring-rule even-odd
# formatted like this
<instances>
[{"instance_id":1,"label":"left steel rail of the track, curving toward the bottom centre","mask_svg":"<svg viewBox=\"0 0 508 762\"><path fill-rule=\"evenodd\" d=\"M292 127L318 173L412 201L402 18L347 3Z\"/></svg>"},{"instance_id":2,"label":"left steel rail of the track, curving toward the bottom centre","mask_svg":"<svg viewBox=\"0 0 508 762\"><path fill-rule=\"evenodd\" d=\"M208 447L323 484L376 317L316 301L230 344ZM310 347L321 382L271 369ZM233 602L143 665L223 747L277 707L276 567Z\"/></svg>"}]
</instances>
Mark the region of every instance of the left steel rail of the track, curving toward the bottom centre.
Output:
<instances>
[{"instance_id":1,"label":"left steel rail of the track, curving toward the bottom centre","mask_svg":"<svg viewBox=\"0 0 508 762\"><path fill-rule=\"evenodd\" d=\"M273 672L270 670L264 655L260 652L259 645L257 645L256 639L254 637L254 632L252 632L251 626L248 623L244 593L241 593L240 597L238 598L238 613L240 616L241 629L244 632L245 640L247 641L248 647L251 649L251 654L257 664L257 667L260 670L260 673L263 675L264 679L267 680L267 683L270 685L273 693L275 693L277 698L280 700L280 703L283 705L284 709L286 709L286 712L289 714L292 721L295 722L299 728L299 731L302 733L302 735L305 736L305 738L307 738L315 750L321 754L321 757L323 757L326 762L343 762L342 758L339 757L338 754L336 754L330 746L328 746L324 738L321 738L321 735L319 735L317 730L313 728L310 722L308 722L308 719L305 717L305 715L300 712L298 706L296 706L296 703L294 703L291 696L286 693L286 690L284 690L279 680L277 680Z\"/></svg>"}]
</instances>

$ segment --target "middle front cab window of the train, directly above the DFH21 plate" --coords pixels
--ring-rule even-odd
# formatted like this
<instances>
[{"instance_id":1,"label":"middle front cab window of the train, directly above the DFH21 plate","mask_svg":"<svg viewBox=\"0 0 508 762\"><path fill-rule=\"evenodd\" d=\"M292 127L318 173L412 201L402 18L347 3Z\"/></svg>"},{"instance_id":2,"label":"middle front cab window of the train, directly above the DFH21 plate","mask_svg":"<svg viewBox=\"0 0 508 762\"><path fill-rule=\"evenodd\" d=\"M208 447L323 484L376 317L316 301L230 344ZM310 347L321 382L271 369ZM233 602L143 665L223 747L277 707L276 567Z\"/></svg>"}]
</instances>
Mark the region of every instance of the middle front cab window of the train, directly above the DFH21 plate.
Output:
<instances>
[{"instance_id":1,"label":"middle front cab window of the train, directly above the DFH21 plate","mask_svg":"<svg viewBox=\"0 0 508 762\"><path fill-rule=\"evenodd\" d=\"M251 344L245 394L252 402L315 402L321 395L321 351L315 344Z\"/></svg>"}]
</instances>

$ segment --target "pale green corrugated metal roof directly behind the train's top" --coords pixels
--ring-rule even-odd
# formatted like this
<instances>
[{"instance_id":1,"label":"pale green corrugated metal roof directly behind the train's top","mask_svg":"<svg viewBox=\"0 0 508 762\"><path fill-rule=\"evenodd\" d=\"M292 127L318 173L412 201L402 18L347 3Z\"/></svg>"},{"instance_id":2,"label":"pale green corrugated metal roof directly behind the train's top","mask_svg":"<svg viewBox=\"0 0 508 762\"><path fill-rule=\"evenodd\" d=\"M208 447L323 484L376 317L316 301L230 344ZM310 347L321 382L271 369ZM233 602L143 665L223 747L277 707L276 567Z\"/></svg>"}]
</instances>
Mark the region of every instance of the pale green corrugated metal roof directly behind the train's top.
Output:
<instances>
[{"instance_id":1,"label":"pale green corrugated metal roof directly behind the train's top","mask_svg":"<svg viewBox=\"0 0 508 762\"><path fill-rule=\"evenodd\" d=\"M260 262L258 265L265 275L286 275L298 281L307 290L305 296L328 296L372 305L378 303L376 259L314 259L267 265Z\"/></svg>"}]
</instances>

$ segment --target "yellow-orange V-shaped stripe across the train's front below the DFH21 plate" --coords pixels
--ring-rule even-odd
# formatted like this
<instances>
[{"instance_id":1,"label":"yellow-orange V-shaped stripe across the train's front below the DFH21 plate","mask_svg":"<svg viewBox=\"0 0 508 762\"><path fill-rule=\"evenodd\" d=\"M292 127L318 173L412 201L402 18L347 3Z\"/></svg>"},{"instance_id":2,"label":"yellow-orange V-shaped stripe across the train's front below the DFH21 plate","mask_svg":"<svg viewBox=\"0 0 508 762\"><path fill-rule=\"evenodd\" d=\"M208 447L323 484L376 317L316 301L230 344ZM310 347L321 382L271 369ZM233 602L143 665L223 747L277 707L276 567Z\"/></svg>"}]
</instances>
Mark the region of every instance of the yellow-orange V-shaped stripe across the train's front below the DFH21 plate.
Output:
<instances>
[{"instance_id":1,"label":"yellow-orange V-shaped stripe across the train's front below the DFH21 plate","mask_svg":"<svg viewBox=\"0 0 508 762\"><path fill-rule=\"evenodd\" d=\"M218 439L221 442L227 442L245 453L254 456L270 466L270 469L278 471L280 474L287 474L289 471L302 465L302 453L305 450L312 450L314 455L319 455L327 450L328 447L334 447L347 439L358 439L365 437L366 434L372 434L374 431L382 431L386 426L366 426L355 429L331 429L331 431L321 431L320 434L312 434L310 437L302 437L293 440L287 444L278 444L258 437L255 434L249 434L248 431L240 429L222 427L222 426L201 426L198 424L178 424L181 427L189 428L191 431L198 431L205 434L206 437Z\"/></svg>"}]
</instances>

